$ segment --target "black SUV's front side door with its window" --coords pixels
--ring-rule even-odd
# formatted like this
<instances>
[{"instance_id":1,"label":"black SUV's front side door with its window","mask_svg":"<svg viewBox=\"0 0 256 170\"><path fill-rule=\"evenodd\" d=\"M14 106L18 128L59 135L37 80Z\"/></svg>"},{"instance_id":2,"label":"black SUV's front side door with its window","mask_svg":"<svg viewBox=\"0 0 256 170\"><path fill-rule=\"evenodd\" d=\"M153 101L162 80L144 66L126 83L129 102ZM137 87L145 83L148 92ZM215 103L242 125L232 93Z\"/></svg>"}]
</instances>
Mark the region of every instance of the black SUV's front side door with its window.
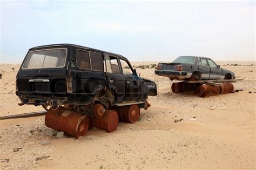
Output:
<instances>
[{"instance_id":1,"label":"black SUV's front side door with its window","mask_svg":"<svg viewBox=\"0 0 256 170\"><path fill-rule=\"evenodd\" d=\"M119 58L125 78L125 101L136 101L140 98L139 78L134 75L130 63Z\"/></svg>"}]
</instances>

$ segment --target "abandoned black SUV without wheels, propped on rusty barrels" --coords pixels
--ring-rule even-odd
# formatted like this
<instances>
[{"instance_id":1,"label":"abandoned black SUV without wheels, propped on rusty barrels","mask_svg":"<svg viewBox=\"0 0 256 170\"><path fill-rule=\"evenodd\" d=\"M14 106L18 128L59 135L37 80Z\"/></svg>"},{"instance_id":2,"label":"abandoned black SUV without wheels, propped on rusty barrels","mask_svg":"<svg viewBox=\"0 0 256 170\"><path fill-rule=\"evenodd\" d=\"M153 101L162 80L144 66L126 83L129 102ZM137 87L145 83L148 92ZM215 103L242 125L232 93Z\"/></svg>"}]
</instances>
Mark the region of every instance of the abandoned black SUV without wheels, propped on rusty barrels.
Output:
<instances>
[{"instance_id":1,"label":"abandoned black SUV without wheels, propped on rusty barrels","mask_svg":"<svg viewBox=\"0 0 256 170\"><path fill-rule=\"evenodd\" d=\"M140 78L127 58L73 44L32 47L16 79L20 105L65 105L88 114L96 104L147 108L147 96L157 95L156 84Z\"/></svg>"}]
</instances>

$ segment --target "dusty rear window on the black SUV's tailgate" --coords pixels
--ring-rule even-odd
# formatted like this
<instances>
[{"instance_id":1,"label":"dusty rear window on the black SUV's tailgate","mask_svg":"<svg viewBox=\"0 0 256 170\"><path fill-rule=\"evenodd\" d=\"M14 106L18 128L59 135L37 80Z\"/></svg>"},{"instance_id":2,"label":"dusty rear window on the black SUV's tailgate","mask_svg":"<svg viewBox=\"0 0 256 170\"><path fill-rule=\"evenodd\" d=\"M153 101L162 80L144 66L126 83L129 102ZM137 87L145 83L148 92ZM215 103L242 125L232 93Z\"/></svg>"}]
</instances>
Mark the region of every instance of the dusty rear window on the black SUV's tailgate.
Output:
<instances>
[{"instance_id":1,"label":"dusty rear window on the black SUV's tailgate","mask_svg":"<svg viewBox=\"0 0 256 170\"><path fill-rule=\"evenodd\" d=\"M67 49L46 49L29 52L22 69L46 69L64 67Z\"/></svg>"}]
</instances>

